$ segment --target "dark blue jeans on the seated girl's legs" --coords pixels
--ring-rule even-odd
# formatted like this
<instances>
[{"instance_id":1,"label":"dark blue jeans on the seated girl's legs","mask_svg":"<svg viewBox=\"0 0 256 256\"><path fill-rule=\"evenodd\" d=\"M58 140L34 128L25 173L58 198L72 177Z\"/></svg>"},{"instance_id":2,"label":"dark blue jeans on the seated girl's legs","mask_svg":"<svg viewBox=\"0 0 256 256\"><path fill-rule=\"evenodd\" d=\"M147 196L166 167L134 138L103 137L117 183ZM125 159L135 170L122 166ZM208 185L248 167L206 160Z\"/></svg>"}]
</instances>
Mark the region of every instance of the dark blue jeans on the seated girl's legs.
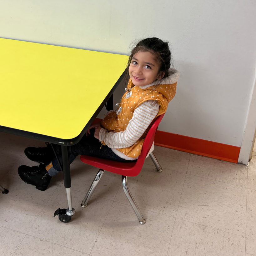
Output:
<instances>
[{"instance_id":1,"label":"dark blue jeans on the seated girl's legs","mask_svg":"<svg viewBox=\"0 0 256 256\"><path fill-rule=\"evenodd\" d=\"M108 146L102 145L102 143L98 139L94 138L94 131L95 129L91 129L90 130L91 134L89 134L88 136L84 135L79 143L73 146L70 146L71 150L70 150L70 156L69 156L69 163L72 163L78 155L93 156L93 157L109 159L117 162L133 162L132 160L126 160L119 157L111 150L111 148L108 148ZM58 158L60 160L60 163L62 163L61 154L58 154ZM57 158L53 158L52 163L53 163L53 168L55 170L61 171Z\"/></svg>"}]
</instances>

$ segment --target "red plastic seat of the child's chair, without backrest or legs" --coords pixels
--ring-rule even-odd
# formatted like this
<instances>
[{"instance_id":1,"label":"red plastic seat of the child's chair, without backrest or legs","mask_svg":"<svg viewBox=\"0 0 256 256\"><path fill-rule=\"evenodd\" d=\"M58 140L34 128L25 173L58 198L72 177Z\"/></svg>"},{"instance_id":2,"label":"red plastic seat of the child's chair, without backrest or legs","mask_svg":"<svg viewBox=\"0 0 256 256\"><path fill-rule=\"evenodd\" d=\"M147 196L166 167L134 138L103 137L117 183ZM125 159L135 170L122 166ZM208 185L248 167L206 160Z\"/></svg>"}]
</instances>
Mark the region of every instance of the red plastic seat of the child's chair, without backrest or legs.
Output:
<instances>
[{"instance_id":1,"label":"red plastic seat of the child's chair, without backrest or legs","mask_svg":"<svg viewBox=\"0 0 256 256\"><path fill-rule=\"evenodd\" d=\"M81 155L80 157L83 163L87 163L99 169L103 169L108 172L125 175L129 177L137 176L141 170L141 166L134 168L137 161L130 163L116 162L108 159L102 159L97 157Z\"/></svg>"}]
</instances>

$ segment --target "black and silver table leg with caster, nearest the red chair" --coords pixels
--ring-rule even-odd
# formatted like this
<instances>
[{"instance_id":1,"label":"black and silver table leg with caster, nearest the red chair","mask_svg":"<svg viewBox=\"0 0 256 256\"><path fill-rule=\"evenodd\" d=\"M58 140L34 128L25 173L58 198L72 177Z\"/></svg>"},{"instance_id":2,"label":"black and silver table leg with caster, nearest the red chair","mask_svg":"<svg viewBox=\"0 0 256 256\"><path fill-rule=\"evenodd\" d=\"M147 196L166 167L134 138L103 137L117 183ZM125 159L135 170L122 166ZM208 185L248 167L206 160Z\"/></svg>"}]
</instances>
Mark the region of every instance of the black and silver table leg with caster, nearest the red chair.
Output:
<instances>
[{"instance_id":1,"label":"black and silver table leg with caster, nearest the red chair","mask_svg":"<svg viewBox=\"0 0 256 256\"><path fill-rule=\"evenodd\" d=\"M69 155L68 155L67 146L61 146L61 154L62 154L64 186L66 188L67 200L68 200L68 209L58 208L58 210L55 211L54 216L58 215L60 221L67 223L71 220L71 216L75 214L75 209L72 208L71 178L70 178Z\"/></svg>"}]
</instances>

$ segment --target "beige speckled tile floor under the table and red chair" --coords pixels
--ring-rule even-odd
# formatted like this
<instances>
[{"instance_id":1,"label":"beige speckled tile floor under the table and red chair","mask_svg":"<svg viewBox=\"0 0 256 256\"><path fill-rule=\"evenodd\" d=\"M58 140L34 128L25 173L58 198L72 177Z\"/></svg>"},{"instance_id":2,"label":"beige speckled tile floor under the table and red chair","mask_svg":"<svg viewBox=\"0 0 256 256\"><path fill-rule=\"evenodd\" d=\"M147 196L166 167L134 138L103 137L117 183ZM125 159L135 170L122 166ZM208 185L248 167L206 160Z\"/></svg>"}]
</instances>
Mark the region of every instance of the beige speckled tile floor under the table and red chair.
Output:
<instances>
[{"instance_id":1,"label":"beige speckled tile floor under the table and red chair","mask_svg":"<svg viewBox=\"0 0 256 256\"><path fill-rule=\"evenodd\" d=\"M17 174L19 165L35 165L24 148L43 143L5 133L0 141L0 184L9 189L0 193L0 255L256 255L256 156L245 166L155 147L163 172L146 159L140 175L128 178L145 225L111 173L81 208L97 169L78 158L71 166L76 214L62 223L53 218L67 207L62 175L42 192Z\"/></svg>"}]
</instances>

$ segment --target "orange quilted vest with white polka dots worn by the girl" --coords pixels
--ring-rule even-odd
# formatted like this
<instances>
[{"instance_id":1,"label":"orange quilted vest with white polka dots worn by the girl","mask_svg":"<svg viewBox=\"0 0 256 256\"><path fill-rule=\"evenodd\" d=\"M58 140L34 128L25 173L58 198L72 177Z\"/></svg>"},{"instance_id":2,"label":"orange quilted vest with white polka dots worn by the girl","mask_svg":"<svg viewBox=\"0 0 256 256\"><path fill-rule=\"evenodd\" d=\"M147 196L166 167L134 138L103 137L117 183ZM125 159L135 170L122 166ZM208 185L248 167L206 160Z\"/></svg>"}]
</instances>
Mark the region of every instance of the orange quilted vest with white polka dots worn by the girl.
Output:
<instances>
[{"instance_id":1,"label":"orange quilted vest with white polka dots worn by the girl","mask_svg":"<svg viewBox=\"0 0 256 256\"><path fill-rule=\"evenodd\" d=\"M155 119L166 112L168 103L173 99L176 93L177 81L173 84L159 84L152 85L146 89L134 86L131 79L128 82L128 91L124 93L119 108L115 112L108 113L102 120L101 125L109 132L124 131L133 117L134 110L143 102L147 100L157 100L160 107ZM130 91L129 91L130 90ZM153 120L153 122L155 121ZM148 130L152 126L150 124L148 129L143 133L142 137L132 146L128 148L116 148L118 151L124 153L128 157L137 158L142 149L142 145Z\"/></svg>"}]
</instances>

